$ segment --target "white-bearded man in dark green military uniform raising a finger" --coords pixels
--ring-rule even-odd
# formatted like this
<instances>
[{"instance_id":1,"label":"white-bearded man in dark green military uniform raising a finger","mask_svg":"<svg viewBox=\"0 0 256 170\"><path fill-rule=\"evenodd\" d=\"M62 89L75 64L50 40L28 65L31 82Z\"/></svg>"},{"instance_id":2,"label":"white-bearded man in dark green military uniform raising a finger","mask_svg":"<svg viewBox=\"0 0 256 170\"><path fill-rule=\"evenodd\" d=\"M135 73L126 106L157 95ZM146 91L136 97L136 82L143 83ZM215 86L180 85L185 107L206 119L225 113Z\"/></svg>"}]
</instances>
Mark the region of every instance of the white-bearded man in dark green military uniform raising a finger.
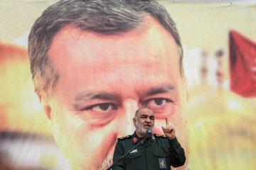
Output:
<instances>
[{"instance_id":1,"label":"white-bearded man in dark green military uniform raising a finger","mask_svg":"<svg viewBox=\"0 0 256 170\"><path fill-rule=\"evenodd\" d=\"M133 118L136 131L133 135L127 135L117 139L114 149L113 162L126 154L138 142L146 137L146 129L154 129L154 112L149 107L139 108ZM155 143L152 139L146 140L132 150L127 157L124 157L112 169L171 169L171 166L182 166L186 162L183 148L176 139L176 130L166 118L166 127L162 127L165 135L154 135ZM149 147L149 149L146 149ZM145 150L146 149L146 150Z\"/></svg>"}]
</instances>

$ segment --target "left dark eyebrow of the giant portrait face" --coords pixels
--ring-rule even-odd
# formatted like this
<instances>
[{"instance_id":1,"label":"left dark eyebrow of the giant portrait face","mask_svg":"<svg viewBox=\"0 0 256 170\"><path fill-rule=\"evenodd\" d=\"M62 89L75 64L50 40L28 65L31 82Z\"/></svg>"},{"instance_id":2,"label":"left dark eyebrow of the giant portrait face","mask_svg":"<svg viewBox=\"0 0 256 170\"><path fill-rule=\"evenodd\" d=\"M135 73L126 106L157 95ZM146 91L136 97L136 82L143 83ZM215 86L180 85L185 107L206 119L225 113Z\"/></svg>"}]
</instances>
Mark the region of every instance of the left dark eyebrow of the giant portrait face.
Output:
<instances>
[{"instance_id":1,"label":"left dark eyebrow of the giant portrait face","mask_svg":"<svg viewBox=\"0 0 256 170\"><path fill-rule=\"evenodd\" d=\"M80 92L77 96L75 96L75 101L90 101L93 99L100 99L105 101L120 101L121 97L115 93L107 93L107 92L96 92L96 93L87 93L85 91Z\"/></svg>"}]
</instances>

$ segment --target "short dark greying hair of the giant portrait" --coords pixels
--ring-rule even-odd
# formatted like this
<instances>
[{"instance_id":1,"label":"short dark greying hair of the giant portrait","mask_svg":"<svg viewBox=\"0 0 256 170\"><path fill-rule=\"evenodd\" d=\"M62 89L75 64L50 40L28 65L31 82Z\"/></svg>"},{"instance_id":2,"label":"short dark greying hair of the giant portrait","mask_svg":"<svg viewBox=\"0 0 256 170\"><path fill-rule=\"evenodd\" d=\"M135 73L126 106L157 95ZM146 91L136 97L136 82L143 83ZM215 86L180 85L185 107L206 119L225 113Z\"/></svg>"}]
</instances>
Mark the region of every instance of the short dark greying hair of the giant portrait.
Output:
<instances>
[{"instance_id":1,"label":"short dark greying hair of the giant portrait","mask_svg":"<svg viewBox=\"0 0 256 170\"><path fill-rule=\"evenodd\" d=\"M155 18L176 40L180 74L183 76L183 50L176 24L156 1L62 0L49 6L36 20L28 37L28 55L36 94L51 98L59 74L50 60L54 36L65 26L103 35L121 35L138 28L146 15Z\"/></svg>"}]
</instances>

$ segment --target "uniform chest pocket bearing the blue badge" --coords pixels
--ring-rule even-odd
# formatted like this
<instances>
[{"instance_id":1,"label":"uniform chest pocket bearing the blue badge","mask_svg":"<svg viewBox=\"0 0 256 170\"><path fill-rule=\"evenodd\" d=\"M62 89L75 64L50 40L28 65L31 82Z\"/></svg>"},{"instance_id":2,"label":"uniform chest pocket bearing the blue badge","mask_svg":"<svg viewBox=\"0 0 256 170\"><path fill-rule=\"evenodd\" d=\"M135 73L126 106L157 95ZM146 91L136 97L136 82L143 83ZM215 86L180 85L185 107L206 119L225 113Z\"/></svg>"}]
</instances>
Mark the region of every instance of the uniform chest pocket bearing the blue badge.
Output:
<instances>
[{"instance_id":1,"label":"uniform chest pocket bearing the blue badge","mask_svg":"<svg viewBox=\"0 0 256 170\"><path fill-rule=\"evenodd\" d=\"M155 169L171 169L169 152L154 152Z\"/></svg>"}]
</instances>

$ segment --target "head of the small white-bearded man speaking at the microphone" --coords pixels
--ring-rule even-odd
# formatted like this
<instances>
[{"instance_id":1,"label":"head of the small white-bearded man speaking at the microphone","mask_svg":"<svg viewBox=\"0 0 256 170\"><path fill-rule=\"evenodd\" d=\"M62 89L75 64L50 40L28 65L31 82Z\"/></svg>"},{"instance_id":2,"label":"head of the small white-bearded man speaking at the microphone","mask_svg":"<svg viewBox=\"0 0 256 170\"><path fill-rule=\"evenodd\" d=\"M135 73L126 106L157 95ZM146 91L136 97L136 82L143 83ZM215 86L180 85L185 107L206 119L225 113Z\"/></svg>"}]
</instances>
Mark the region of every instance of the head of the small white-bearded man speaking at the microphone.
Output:
<instances>
[{"instance_id":1,"label":"head of the small white-bearded man speaking at the microphone","mask_svg":"<svg viewBox=\"0 0 256 170\"><path fill-rule=\"evenodd\" d=\"M140 108L133 120L139 137L145 137L147 129L154 130L154 112L149 108Z\"/></svg>"}]
</instances>

